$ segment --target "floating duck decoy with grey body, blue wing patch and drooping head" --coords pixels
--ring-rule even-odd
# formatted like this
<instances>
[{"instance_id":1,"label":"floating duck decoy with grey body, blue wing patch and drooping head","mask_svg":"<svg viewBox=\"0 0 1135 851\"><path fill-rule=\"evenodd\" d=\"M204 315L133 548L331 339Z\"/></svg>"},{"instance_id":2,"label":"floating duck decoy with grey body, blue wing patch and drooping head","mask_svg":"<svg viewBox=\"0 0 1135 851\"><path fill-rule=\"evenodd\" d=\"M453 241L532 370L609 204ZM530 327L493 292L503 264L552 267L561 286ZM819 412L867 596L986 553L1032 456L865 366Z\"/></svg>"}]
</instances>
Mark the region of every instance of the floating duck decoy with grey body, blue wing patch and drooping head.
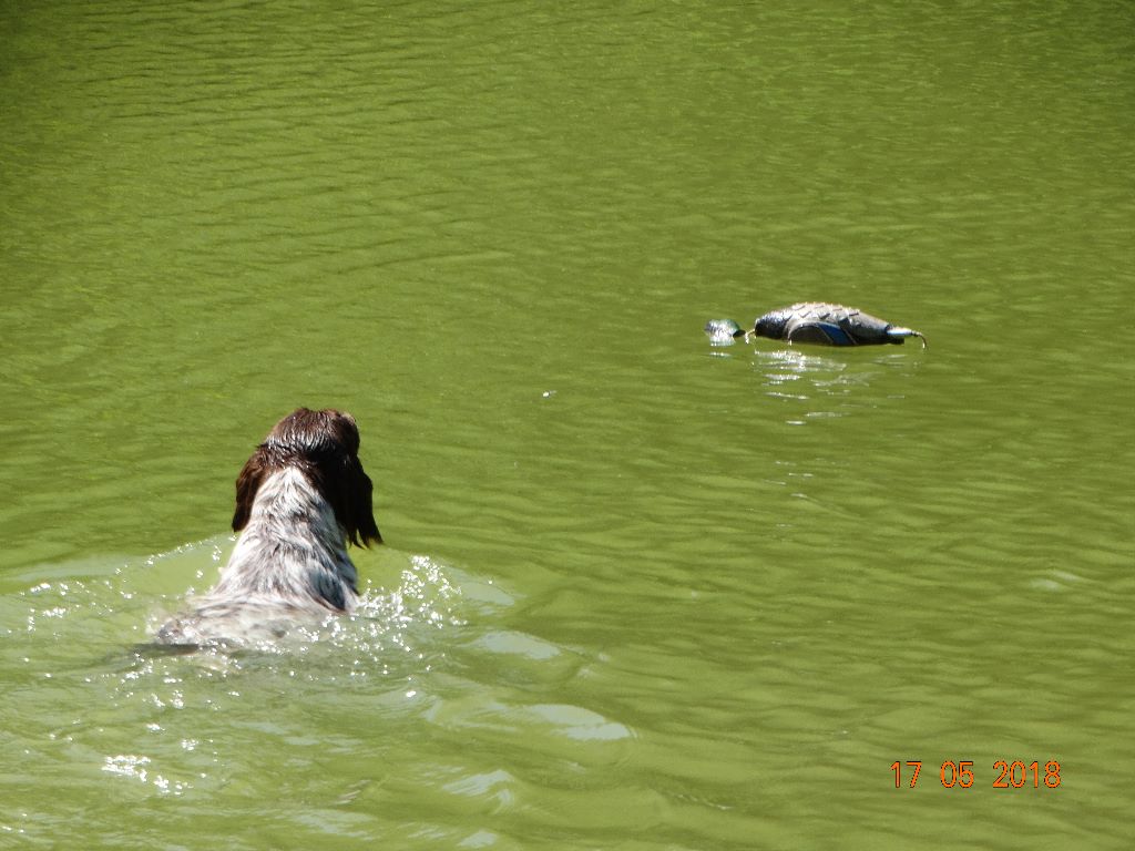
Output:
<instances>
[{"instance_id":1,"label":"floating duck decoy with grey body, blue wing patch and drooping head","mask_svg":"<svg viewBox=\"0 0 1135 851\"><path fill-rule=\"evenodd\" d=\"M901 345L907 337L926 338L913 328L892 325L856 307L830 302L799 302L757 317L751 331L741 330L732 320L713 320L706 332L714 339L767 337L788 344L817 343L825 346Z\"/></svg>"}]
</instances>

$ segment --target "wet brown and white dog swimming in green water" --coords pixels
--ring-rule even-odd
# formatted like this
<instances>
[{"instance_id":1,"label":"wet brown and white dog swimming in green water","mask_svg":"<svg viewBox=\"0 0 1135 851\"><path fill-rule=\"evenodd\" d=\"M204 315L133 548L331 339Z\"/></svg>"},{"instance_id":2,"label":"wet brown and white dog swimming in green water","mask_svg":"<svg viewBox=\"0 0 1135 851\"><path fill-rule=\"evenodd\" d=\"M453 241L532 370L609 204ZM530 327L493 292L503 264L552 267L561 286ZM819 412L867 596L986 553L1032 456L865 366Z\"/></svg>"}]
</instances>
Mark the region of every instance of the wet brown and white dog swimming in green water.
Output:
<instances>
[{"instance_id":1,"label":"wet brown and white dog swimming in green water","mask_svg":"<svg viewBox=\"0 0 1135 851\"><path fill-rule=\"evenodd\" d=\"M346 614L359 599L347 545L381 544L372 486L348 413L297 408L236 479L236 547L220 581L155 635L167 644L244 644L297 622Z\"/></svg>"}]
</instances>

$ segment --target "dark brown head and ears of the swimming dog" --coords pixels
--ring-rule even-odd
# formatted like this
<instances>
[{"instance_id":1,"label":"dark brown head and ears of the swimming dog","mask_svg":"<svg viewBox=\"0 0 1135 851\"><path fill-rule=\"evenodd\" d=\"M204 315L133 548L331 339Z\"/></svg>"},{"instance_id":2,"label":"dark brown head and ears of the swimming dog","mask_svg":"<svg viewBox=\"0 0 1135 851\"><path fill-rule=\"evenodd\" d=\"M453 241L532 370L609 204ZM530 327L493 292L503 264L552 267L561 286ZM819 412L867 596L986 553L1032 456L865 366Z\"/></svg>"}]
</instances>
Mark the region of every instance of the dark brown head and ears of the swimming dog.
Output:
<instances>
[{"instance_id":1,"label":"dark brown head and ears of the swimming dog","mask_svg":"<svg viewBox=\"0 0 1135 851\"><path fill-rule=\"evenodd\" d=\"M359 427L354 418L327 408L299 407L269 432L236 479L233 531L249 522L252 503L266 477L295 467L335 509L335 517L356 547L381 544L371 504L373 486L359 461Z\"/></svg>"}]
</instances>

